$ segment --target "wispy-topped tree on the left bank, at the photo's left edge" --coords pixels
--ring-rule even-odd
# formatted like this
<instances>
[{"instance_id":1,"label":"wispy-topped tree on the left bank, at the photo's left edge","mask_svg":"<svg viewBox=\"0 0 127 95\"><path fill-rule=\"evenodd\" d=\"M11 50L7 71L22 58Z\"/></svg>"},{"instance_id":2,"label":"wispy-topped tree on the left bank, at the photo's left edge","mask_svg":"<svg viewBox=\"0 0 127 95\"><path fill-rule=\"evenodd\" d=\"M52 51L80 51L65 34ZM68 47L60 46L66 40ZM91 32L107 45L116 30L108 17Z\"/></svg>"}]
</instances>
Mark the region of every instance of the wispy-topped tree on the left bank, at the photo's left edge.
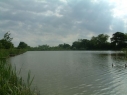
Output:
<instances>
[{"instance_id":1,"label":"wispy-topped tree on the left bank, at the photo's left edge","mask_svg":"<svg viewBox=\"0 0 127 95\"><path fill-rule=\"evenodd\" d=\"M7 32L4 34L4 38L0 40L0 48L10 49L14 48L13 43L11 42L13 38L10 38L10 33Z\"/></svg>"}]
</instances>

